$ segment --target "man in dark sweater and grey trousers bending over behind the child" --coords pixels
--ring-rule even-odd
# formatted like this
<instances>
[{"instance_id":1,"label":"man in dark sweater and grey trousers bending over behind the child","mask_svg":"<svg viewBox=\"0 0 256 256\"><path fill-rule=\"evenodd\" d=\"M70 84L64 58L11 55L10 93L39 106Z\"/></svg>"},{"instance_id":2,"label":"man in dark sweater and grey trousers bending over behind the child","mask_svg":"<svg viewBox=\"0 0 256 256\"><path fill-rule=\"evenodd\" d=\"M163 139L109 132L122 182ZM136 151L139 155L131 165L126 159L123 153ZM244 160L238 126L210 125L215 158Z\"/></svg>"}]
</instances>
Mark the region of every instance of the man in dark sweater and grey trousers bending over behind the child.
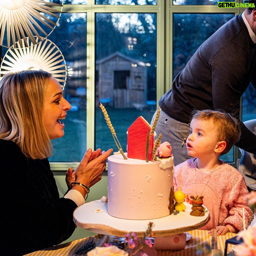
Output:
<instances>
[{"instance_id":1,"label":"man in dark sweater and grey trousers bending over behind the child","mask_svg":"<svg viewBox=\"0 0 256 256\"><path fill-rule=\"evenodd\" d=\"M190 158L185 140L193 110L224 110L239 120L241 95L250 82L256 88L255 52L256 10L246 9L197 49L159 100L162 111L156 132L171 143L176 165ZM240 125L236 145L256 154L256 136Z\"/></svg>"}]
</instances>

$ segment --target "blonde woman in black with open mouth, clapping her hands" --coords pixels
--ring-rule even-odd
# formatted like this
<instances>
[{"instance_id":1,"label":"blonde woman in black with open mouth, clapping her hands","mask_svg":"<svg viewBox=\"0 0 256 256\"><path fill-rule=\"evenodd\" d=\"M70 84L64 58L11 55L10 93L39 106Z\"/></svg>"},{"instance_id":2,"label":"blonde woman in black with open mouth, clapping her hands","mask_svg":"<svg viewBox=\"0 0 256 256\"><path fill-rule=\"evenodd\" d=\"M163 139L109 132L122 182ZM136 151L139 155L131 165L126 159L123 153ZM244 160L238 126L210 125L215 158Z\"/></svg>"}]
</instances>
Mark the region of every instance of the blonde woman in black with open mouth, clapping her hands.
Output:
<instances>
[{"instance_id":1,"label":"blonde woman in black with open mouth, clapping her hands","mask_svg":"<svg viewBox=\"0 0 256 256\"><path fill-rule=\"evenodd\" d=\"M1 251L24 255L66 240L73 211L101 179L112 149L88 149L66 174L68 192L59 197L48 156L51 140L64 135L71 106L59 82L44 71L6 74L0 82Z\"/></svg>"}]
</instances>

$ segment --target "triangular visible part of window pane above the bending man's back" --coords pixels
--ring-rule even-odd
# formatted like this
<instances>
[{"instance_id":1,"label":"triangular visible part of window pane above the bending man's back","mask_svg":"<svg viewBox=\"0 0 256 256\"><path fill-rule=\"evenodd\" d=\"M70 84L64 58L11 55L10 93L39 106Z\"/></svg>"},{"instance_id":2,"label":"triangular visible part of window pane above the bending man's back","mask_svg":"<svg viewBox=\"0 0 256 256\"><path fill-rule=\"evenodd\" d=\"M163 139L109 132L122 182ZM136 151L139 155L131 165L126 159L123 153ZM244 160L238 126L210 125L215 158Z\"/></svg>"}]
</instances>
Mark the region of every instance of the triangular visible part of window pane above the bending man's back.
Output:
<instances>
[{"instance_id":1,"label":"triangular visible part of window pane above the bending man's back","mask_svg":"<svg viewBox=\"0 0 256 256\"><path fill-rule=\"evenodd\" d=\"M197 48L233 17L234 14L173 15L173 79L185 67Z\"/></svg>"}]
</instances>

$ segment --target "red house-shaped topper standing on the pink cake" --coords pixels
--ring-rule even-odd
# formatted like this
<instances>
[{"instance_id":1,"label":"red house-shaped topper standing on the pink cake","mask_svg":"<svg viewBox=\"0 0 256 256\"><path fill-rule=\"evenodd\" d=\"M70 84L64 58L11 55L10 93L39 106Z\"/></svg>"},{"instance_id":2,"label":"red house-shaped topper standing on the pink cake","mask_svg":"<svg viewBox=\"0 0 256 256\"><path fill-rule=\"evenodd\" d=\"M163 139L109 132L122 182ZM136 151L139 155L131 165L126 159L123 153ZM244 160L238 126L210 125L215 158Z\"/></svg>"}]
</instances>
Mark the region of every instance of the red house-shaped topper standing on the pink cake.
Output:
<instances>
[{"instance_id":1,"label":"red house-shaped topper standing on the pink cake","mask_svg":"<svg viewBox=\"0 0 256 256\"><path fill-rule=\"evenodd\" d=\"M127 157L146 160L147 136L150 136L150 124L139 116L128 128L127 136ZM148 137L149 138L149 137ZM154 135L151 136L148 147L148 160L152 159L154 147Z\"/></svg>"}]
</instances>

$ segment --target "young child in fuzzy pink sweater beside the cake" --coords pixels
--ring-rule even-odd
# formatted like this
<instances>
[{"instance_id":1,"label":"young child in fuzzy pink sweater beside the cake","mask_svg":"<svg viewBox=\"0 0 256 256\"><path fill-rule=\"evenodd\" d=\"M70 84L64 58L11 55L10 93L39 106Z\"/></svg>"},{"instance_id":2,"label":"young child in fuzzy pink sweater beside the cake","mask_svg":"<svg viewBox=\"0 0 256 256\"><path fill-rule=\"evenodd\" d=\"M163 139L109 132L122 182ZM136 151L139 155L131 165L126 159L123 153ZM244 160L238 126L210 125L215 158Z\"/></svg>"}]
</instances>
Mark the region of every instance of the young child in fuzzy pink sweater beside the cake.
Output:
<instances>
[{"instance_id":1,"label":"young child in fuzzy pink sweater beside the cake","mask_svg":"<svg viewBox=\"0 0 256 256\"><path fill-rule=\"evenodd\" d=\"M209 209L211 220L202 229L212 233L214 211L218 236L227 232L237 233L253 220L253 212L244 199L248 190L243 176L219 159L239 138L238 121L230 114L195 111L186 141L188 154L194 158L174 169L174 191L180 187L188 197L204 196L204 205Z\"/></svg>"}]
</instances>

